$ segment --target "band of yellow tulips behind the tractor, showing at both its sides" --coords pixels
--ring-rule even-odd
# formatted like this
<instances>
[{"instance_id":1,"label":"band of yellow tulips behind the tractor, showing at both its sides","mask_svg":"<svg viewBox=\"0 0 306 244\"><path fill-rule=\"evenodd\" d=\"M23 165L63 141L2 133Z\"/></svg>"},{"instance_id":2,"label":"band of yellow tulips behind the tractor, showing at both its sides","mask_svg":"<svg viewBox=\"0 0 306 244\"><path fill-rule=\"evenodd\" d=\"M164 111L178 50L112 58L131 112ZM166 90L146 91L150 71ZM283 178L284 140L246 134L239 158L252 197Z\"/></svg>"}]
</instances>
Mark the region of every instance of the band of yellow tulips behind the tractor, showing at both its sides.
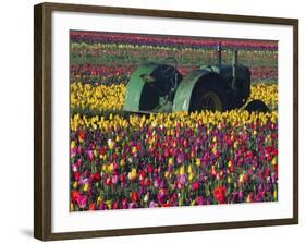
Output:
<instances>
[{"instance_id":1,"label":"band of yellow tulips behind the tractor, showing at both its sides","mask_svg":"<svg viewBox=\"0 0 306 244\"><path fill-rule=\"evenodd\" d=\"M126 86L96 85L71 83L71 108L87 109L95 111L122 110ZM271 110L278 108L278 85L258 83L250 88L249 100L260 99Z\"/></svg>"}]
</instances>

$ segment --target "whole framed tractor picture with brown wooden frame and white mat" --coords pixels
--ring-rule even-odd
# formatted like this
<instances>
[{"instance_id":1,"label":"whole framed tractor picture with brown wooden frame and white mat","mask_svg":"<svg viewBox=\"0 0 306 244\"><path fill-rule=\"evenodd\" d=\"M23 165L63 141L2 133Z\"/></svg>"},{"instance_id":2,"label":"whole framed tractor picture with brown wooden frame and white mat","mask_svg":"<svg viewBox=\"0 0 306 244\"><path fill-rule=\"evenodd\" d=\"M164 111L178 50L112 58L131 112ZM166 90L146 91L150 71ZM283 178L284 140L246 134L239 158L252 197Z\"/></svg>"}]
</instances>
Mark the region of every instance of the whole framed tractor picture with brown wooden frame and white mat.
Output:
<instances>
[{"instance_id":1,"label":"whole framed tractor picture with brown wooden frame and white mat","mask_svg":"<svg viewBox=\"0 0 306 244\"><path fill-rule=\"evenodd\" d=\"M36 239L298 223L298 20L34 10Z\"/></svg>"}]
</instances>

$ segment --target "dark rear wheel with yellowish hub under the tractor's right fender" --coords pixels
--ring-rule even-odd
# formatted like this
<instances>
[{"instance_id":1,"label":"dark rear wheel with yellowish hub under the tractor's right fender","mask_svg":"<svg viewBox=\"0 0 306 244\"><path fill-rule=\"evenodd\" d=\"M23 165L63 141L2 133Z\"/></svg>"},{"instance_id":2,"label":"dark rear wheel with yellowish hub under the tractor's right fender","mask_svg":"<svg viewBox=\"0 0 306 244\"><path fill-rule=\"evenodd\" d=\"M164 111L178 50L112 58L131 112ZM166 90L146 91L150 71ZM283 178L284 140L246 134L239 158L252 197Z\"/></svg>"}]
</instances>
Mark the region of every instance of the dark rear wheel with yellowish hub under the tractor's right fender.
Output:
<instances>
[{"instance_id":1,"label":"dark rear wheel with yellowish hub under the tractor's right fender","mask_svg":"<svg viewBox=\"0 0 306 244\"><path fill-rule=\"evenodd\" d=\"M191 111L225 111L228 107L227 90L218 81L204 82L194 88Z\"/></svg>"}]
</instances>

